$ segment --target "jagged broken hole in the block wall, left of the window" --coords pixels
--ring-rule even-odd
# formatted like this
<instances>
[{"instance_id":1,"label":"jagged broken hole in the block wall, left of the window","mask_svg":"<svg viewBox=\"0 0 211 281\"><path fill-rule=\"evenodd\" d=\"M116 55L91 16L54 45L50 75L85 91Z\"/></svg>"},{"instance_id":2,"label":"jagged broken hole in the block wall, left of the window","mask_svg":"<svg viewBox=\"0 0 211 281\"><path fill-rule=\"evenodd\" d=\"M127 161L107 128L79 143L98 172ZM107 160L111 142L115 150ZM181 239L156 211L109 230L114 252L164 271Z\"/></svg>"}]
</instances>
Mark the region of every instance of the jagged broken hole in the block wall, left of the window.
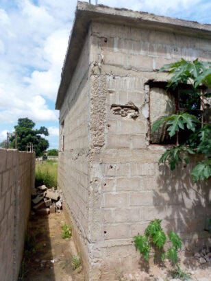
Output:
<instances>
[{"instance_id":1,"label":"jagged broken hole in the block wall, left of the window","mask_svg":"<svg viewBox=\"0 0 211 281\"><path fill-rule=\"evenodd\" d=\"M110 109L113 114L121 115L121 117L136 119L139 115L138 108L132 101L128 101L125 105L112 104Z\"/></svg>"}]
</instances>

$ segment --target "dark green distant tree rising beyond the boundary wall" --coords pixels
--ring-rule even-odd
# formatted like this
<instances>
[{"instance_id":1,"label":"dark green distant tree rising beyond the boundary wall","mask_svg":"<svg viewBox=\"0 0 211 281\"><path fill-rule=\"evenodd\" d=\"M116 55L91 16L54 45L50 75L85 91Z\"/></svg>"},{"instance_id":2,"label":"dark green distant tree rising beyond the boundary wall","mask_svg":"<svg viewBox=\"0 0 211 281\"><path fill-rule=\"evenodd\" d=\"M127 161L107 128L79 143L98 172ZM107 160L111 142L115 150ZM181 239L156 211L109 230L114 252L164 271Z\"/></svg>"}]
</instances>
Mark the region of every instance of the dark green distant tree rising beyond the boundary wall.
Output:
<instances>
[{"instance_id":1,"label":"dark green distant tree rising beyond the boundary wall","mask_svg":"<svg viewBox=\"0 0 211 281\"><path fill-rule=\"evenodd\" d=\"M27 145L33 144L33 149L36 152L36 157L42 156L43 151L49 147L49 141L42 137L48 136L49 132L46 127L34 129L36 124L28 118L18 119L18 125L14 126L15 131L18 133L17 145L18 150L26 151ZM15 147L15 137L11 136L11 147Z\"/></svg>"}]
</instances>

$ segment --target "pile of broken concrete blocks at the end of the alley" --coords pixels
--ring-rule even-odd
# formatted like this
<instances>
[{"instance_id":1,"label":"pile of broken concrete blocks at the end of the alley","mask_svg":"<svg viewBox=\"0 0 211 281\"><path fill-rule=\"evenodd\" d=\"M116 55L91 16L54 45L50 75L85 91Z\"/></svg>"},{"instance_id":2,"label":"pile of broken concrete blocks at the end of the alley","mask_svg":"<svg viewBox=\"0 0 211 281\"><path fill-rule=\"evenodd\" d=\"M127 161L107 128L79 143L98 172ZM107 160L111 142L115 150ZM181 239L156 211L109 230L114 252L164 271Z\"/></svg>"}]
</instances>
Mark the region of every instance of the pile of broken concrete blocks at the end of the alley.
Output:
<instances>
[{"instance_id":1,"label":"pile of broken concrete blocks at the end of the alley","mask_svg":"<svg viewBox=\"0 0 211 281\"><path fill-rule=\"evenodd\" d=\"M32 215L53 214L62 210L62 191L42 185L32 190Z\"/></svg>"}]
</instances>

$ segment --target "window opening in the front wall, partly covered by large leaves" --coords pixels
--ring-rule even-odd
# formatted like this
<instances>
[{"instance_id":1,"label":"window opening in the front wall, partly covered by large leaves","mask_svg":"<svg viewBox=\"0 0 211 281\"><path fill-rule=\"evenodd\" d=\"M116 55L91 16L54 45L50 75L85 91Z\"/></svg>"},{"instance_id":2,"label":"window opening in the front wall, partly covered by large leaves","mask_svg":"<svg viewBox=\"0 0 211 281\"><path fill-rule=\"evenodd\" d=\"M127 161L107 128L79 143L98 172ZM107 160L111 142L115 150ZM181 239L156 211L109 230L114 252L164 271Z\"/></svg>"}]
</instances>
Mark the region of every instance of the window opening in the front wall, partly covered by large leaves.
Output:
<instances>
[{"instance_id":1,"label":"window opening in the front wall, partly covered by large leaves","mask_svg":"<svg viewBox=\"0 0 211 281\"><path fill-rule=\"evenodd\" d=\"M179 112L188 112L195 115L200 123L203 123L203 89L194 90L191 86L180 85L176 90L166 90L158 84L150 87L149 93L149 121L150 132L151 125L163 117ZM191 130L185 128L180 130L170 138L167 131L168 126L162 124L156 132L150 134L150 144L152 145L186 145L188 135L192 134Z\"/></svg>"}]
</instances>

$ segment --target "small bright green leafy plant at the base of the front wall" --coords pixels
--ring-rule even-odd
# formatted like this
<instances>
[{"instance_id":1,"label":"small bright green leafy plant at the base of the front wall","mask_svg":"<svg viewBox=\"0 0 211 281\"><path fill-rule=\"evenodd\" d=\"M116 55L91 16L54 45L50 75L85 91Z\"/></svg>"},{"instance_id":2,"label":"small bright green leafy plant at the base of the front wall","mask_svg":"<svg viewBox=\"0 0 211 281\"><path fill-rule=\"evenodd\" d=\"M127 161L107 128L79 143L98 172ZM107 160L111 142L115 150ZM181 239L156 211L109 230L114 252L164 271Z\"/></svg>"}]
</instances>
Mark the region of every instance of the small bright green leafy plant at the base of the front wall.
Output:
<instances>
[{"instance_id":1,"label":"small bright green leafy plant at the base of the front wall","mask_svg":"<svg viewBox=\"0 0 211 281\"><path fill-rule=\"evenodd\" d=\"M134 237L135 246L139 249L140 254L142 254L145 260L147 260L148 262L151 245L153 245L153 247L156 247L156 249L158 249L161 253L162 261L165 258L169 258L169 260L171 260L175 264L175 262L177 262L177 250L182 248L182 241L175 232L171 231L168 234L168 238L172 246L169 247L167 252L165 252L163 247L166 243L167 237L160 223L160 219L151 221L145 229L144 235L140 235L138 233L138 235Z\"/></svg>"}]
</instances>

